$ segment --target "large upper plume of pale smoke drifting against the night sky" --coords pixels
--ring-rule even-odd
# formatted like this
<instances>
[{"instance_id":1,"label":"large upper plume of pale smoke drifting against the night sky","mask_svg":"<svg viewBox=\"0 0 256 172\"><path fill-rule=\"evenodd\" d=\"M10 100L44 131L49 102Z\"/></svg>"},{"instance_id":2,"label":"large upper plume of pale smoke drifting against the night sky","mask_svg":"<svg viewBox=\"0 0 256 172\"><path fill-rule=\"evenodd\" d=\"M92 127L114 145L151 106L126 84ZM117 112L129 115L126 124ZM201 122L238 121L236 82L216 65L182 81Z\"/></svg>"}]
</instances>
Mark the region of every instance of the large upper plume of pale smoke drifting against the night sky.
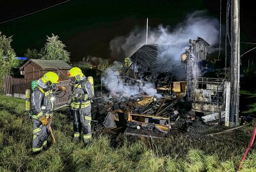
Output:
<instances>
[{"instance_id":1,"label":"large upper plume of pale smoke drifting against the night sky","mask_svg":"<svg viewBox=\"0 0 256 172\"><path fill-rule=\"evenodd\" d=\"M218 43L219 22L207 17L206 11L195 11L175 28L159 25L148 29L148 44L168 45L160 49L159 57L180 61L180 54L189 47L189 39L205 39L211 47ZM171 31L172 29L172 31ZM110 41L111 57L124 59L145 45L145 29L136 27L128 36L119 36ZM212 49L213 50L213 49Z\"/></svg>"}]
</instances>

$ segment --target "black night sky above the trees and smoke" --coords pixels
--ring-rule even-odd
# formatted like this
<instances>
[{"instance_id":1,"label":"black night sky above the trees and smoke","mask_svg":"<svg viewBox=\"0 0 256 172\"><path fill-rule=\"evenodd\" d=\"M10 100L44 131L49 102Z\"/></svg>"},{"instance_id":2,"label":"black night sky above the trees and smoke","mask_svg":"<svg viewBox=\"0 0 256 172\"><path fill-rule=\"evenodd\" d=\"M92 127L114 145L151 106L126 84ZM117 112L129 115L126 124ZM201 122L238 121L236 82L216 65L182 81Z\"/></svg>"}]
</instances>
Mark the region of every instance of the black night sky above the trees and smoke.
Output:
<instances>
[{"instance_id":1,"label":"black night sky above the trees and smoke","mask_svg":"<svg viewBox=\"0 0 256 172\"><path fill-rule=\"evenodd\" d=\"M42 10L61 0L17 1L1 3L0 22ZM225 29L225 4L222 1L223 30ZM24 55L27 48L44 47L46 35L58 34L67 45L71 61L81 61L88 55L115 59L111 57L109 42L117 36L127 36L134 27L143 28L148 24L154 28L160 24L171 27L179 24L193 11L207 10L207 14L220 18L220 1L183 0L183 1L120 1L120 0L72 0L54 8L40 11L28 17L0 24L0 31L6 36L13 35L12 47L17 56ZM255 9L245 1L240 2L241 41L256 42ZM224 48L224 42L222 43ZM241 44L241 54L255 45ZM224 53L223 51L221 51ZM244 55L253 58L256 50Z\"/></svg>"}]
</instances>

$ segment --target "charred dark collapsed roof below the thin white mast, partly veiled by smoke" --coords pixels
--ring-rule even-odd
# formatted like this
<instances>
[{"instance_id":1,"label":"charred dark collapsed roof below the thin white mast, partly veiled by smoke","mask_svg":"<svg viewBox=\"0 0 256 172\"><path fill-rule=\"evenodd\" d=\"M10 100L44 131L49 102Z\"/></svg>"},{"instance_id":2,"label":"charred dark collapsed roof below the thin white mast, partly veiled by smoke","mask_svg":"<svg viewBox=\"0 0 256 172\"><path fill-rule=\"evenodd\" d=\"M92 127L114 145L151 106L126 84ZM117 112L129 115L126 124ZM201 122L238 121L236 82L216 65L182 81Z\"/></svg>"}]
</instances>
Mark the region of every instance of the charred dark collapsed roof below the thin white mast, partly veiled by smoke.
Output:
<instances>
[{"instance_id":1,"label":"charred dark collapsed roof below the thin white mast, partly veiled by smoke","mask_svg":"<svg viewBox=\"0 0 256 172\"><path fill-rule=\"evenodd\" d=\"M183 81L186 78L185 66L180 57L175 59L170 45L143 45L131 57L131 69L138 78L147 82Z\"/></svg>"}]
</instances>

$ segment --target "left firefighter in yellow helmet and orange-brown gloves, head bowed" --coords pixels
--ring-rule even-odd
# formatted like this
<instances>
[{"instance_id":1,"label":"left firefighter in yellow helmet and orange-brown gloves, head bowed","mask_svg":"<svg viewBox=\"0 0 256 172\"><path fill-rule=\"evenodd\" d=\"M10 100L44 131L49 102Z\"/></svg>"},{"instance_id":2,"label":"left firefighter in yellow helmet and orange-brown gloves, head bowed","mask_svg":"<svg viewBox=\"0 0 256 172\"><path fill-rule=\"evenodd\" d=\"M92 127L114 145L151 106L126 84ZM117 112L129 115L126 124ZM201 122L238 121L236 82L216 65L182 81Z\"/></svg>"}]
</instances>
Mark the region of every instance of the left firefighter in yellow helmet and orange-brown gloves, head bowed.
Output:
<instances>
[{"instance_id":1,"label":"left firefighter in yellow helmet and orange-brown gloves, head bowed","mask_svg":"<svg viewBox=\"0 0 256 172\"><path fill-rule=\"evenodd\" d=\"M54 92L59 76L54 72L47 72L37 81L37 87L31 94L31 117L33 123L33 152L40 152L47 147L50 134L52 111L54 108Z\"/></svg>"}]
</instances>

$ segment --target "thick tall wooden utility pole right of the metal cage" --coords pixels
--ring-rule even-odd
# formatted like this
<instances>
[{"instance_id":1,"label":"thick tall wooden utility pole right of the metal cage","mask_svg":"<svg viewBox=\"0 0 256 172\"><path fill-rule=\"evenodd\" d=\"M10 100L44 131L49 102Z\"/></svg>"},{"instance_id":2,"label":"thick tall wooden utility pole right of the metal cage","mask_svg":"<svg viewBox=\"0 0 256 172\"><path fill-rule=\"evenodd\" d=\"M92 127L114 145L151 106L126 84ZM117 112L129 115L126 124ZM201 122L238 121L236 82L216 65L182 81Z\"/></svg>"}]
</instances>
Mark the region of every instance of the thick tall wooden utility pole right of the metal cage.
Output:
<instances>
[{"instance_id":1,"label":"thick tall wooden utility pole right of the metal cage","mask_svg":"<svg viewBox=\"0 0 256 172\"><path fill-rule=\"evenodd\" d=\"M240 80L240 31L239 31L239 0L231 0L231 96L230 96L230 127L239 125L239 80Z\"/></svg>"}]
</instances>

